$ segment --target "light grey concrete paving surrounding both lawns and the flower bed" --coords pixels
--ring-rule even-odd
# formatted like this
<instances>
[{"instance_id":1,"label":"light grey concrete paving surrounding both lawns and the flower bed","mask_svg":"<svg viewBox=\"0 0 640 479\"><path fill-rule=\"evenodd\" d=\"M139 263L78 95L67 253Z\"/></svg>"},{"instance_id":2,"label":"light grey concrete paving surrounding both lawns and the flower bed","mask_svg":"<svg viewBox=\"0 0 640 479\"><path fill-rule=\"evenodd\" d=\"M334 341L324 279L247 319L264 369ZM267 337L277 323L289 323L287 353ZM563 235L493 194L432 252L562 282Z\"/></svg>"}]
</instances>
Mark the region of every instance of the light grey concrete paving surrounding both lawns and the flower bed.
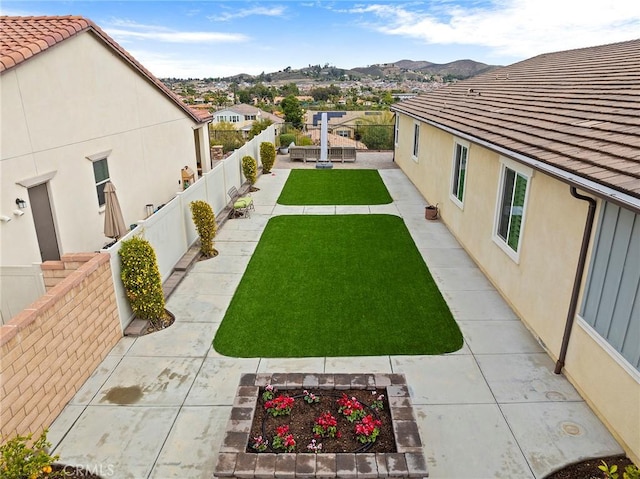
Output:
<instances>
[{"instance_id":1,"label":"light grey concrete paving surrounding both lawns and the flower bed","mask_svg":"<svg viewBox=\"0 0 640 479\"><path fill-rule=\"evenodd\" d=\"M336 168L339 168L336 165ZM197 263L169 298L167 330L123 338L49 432L55 453L117 478L211 478L241 373L404 373L431 478L542 478L622 448L399 169L380 170L394 202L285 207L289 170L260 177L249 219L225 223L220 255ZM236 359L211 348L267 221L282 214L404 218L465 337L443 356Z\"/></svg>"}]
</instances>

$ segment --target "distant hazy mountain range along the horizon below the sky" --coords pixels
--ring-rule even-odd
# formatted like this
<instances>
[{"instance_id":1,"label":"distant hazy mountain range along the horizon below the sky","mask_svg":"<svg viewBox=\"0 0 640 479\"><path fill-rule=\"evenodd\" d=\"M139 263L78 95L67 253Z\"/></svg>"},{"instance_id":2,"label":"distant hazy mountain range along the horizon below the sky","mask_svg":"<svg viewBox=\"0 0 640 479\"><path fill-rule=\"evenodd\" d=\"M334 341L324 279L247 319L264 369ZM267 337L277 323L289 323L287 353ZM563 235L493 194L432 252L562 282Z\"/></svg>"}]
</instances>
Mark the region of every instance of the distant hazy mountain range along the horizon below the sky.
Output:
<instances>
[{"instance_id":1,"label":"distant hazy mountain range along the horizon below the sky","mask_svg":"<svg viewBox=\"0 0 640 479\"><path fill-rule=\"evenodd\" d=\"M426 76L469 78L478 73L498 68L497 65L487 65L473 60L456 60L450 63L437 64L427 61L399 60L394 63L379 63L367 67L352 69L337 68L331 65L309 65L297 70L290 67L273 73L248 75L242 73L221 80L235 82L295 82L301 80L341 81L359 80L362 78L382 80L424 80Z\"/></svg>"}]
</instances>

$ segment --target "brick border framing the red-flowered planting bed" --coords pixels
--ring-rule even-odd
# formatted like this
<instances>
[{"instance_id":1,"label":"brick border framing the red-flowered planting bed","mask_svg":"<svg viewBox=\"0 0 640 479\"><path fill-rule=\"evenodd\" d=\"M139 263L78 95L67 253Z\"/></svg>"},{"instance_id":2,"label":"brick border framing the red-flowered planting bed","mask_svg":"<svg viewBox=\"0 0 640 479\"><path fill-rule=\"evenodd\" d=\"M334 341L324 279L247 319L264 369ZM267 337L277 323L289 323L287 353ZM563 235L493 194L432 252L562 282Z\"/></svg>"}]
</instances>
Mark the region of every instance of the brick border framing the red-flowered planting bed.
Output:
<instances>
[{"instance_id":1,"label":"brick border framing the red-flowered planting bed","mask_svg":"<svg viewBox=\"0 0 640 479\"><path fill-rule=\"evenodd\" d=\"M260 387L286 389L386 389L397 452L248 453L249 433ZM428 477L418 424L403 374L243 374L218 454L215 477L362 478Z\"/></svg>"}]
</instances>

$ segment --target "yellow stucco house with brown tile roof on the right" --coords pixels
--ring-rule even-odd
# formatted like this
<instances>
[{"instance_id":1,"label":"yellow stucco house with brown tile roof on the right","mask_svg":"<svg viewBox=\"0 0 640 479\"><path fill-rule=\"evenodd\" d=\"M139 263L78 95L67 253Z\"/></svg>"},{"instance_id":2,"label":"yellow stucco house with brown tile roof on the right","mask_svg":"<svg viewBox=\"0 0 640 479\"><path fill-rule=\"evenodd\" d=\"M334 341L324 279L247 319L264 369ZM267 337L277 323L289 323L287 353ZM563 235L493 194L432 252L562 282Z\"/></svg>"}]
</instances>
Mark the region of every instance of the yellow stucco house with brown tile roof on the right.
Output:
<instances>
[{"instance_id":1,"label":"yellow stucco house with brown tile roof on the right","mask_svg":"<svg viewBox=\"0 0 640 479\"><path fill-rule=\"evenodd\" d=\"M640 40L392 110L395 161L638 463Z\"/></svg>"}]
</instances>

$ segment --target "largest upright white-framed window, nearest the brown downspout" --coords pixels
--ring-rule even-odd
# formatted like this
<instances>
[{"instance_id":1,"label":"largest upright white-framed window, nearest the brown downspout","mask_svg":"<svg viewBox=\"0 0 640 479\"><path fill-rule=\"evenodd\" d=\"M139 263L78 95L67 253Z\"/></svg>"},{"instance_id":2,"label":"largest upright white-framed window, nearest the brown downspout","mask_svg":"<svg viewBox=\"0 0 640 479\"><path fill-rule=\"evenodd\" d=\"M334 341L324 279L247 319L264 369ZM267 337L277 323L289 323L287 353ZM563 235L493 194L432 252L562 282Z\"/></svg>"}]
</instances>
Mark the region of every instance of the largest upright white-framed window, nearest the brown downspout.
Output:
<instances>
[{"instance_id":1,"label":"largest upright white-framed window, nearest the brown downspout","mask_svg":"<svg viewBox=\"0 0 640 479\"><path fill-rule=\"evenodd\" d=\"M533 171L502 159L494 241L518 260L529 180Z\"/></svg>"}]
</instances>

